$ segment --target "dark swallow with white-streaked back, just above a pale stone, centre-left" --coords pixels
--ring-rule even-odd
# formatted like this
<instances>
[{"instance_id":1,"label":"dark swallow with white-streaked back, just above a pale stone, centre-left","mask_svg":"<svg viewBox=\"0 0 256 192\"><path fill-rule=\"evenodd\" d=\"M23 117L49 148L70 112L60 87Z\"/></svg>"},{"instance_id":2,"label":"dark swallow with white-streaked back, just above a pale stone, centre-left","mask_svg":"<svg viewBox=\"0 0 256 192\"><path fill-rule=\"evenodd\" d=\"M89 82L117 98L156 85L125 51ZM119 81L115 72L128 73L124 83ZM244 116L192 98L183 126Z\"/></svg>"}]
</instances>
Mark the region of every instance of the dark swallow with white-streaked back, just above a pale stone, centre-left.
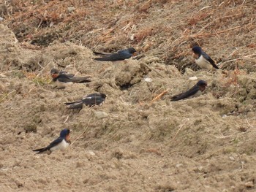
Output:
<instances>
[{"instance_id":1,"label":"dark swallow with white-streaked back, just above a pale stone, centre-left","mask_svg":"<svg viewBox=\"0 0 256 192\"><path fill-rule=\"evenodd\" d=\"M64 103L67 104L67 108L69 109L82 109L83 104L89 105L89 107L92 107L94 105L101 105L107 96L104 93L92 93L89 94L86 97L83 97L83 99L79 101L73 101L69 103Z\"/></svg>"}]
</instances>

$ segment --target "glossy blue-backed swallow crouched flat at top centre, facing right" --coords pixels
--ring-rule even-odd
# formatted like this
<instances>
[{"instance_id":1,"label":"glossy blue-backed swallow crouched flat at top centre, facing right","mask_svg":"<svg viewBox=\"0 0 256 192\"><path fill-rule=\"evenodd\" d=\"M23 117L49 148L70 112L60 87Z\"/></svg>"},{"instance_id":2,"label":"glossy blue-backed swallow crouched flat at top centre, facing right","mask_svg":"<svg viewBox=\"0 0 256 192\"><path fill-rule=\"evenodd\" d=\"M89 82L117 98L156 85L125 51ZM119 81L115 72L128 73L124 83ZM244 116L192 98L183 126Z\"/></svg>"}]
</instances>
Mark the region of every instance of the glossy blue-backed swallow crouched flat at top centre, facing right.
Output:
<instances>
[{"instance_id":1,"label":"glossy blue-backed swallow crouched flat at top centre, facing right","mask_svg":"<svg viewBox=\"0 0 256 192\"><path fill-rule=\"evenodd\" d=\"M97 61L122 61L126 58L131 58L136 52L135 48L129 47L125 50L118 50L117 53L98 53L94 51L94 54L102 55L101 58L94 58Z\"/></svg>"}]
</instances>

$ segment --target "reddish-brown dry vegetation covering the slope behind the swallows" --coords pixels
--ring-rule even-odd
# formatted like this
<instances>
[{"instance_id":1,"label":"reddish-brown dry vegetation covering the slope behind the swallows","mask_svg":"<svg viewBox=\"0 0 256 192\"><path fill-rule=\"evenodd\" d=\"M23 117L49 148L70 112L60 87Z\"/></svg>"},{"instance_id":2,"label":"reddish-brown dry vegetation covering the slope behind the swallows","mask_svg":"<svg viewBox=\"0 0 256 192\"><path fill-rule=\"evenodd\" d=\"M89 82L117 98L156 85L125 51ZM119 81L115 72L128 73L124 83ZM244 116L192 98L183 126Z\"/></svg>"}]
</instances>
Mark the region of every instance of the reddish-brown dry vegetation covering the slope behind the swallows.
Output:
<instances>
[{"instance_id":1,"label":"reddish-brown dry vegetation covering the slope behind the swallows","mask_svg":"<svg viewBox=\"0 0 256 192\"><path fill-rule=\"evenodd\" d=\"M4 23L20 42L32 45L71 41L104 51L134 46L181 71L197 69L190 53L192 46L200 45L222 69L245 69L244 61L246 69L255 65L253 0L13 0L6 1L6 7Z\"/></svg>"}]
</instances>

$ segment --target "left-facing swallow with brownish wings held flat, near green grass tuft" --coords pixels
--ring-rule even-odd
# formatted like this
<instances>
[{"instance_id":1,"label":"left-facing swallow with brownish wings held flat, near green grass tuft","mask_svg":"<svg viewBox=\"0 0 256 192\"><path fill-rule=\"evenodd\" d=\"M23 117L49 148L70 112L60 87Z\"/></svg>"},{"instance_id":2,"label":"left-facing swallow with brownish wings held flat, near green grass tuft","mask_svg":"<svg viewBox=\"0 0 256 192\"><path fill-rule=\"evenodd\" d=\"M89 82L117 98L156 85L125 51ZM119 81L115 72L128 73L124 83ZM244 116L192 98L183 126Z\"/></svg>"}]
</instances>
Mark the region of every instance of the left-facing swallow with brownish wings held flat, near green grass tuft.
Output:
<instances>
[{"instance_id":1,"label":"left-facing swallow with brownish wings held flat, near green grass tuft","mask_svg":"<svg viewBox=\"0 0 256 192\"><path fill-rule=\"evenodd\" d=\"M53 82L56 82L58 88L65 88L67 84L91 82L89 77L75 77L74 74L67 74L67 72L59 72L58 69L51 69L50 75Z\"/></svg>"}]
</instances>

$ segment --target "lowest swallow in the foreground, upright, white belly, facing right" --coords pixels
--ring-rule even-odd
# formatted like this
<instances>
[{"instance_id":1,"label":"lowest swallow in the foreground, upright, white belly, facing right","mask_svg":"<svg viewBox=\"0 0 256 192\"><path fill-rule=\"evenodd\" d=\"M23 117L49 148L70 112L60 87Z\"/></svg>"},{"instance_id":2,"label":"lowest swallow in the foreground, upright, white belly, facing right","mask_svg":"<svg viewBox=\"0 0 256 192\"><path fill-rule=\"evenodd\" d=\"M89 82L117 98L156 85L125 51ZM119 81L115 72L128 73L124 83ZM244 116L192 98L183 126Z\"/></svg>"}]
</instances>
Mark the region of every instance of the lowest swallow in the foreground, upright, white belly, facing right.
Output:
<instances>
[{"instance_id":1,"label":"lowest swallow in the foreground, upright, white belly, facing right","mask_svg":"<svg viewBox=\"0 0 256 192\"><path fill-rule=\"evenodd\" d=\"M33 151L37 151L36 154L39 154L39 153L43 153L45 151L52 153L53 150L63 150L64 148L68 147L70 144L69 133L70 133L70 130L67 128L64 128L61 131L59 138L57 138L53 142L51 142L50 145L48 145L47 147L41 148L41 149L33 150Z\"/></svg>"}]
</instances>

